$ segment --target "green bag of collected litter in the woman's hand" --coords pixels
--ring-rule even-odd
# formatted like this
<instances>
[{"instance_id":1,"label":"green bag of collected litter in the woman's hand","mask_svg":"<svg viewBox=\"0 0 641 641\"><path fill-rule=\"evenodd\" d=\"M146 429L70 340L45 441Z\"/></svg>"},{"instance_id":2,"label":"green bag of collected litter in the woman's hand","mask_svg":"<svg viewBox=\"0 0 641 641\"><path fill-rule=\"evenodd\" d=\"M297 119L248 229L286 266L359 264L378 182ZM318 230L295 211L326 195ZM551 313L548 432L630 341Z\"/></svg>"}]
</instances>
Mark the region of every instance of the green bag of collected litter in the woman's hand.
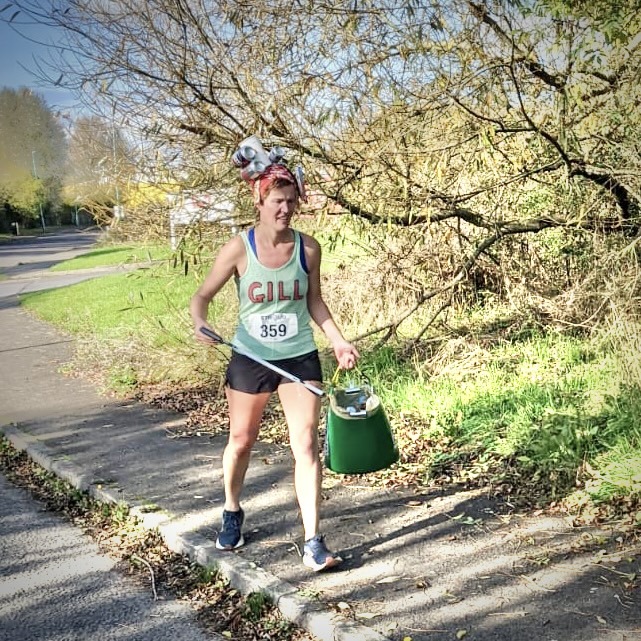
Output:
<instances>
[{"instance_id":1,"label":"green bag of collected litter in the woman's hand","mask_svg":"<svg viewBox=\"0 0 641 641\"><path fill-rule=\"evenodd\" d=\"M363 381L338 386L336 370L328 392L325 465L340 474L366 474L398 461L398 448L380 398Z\"/></svg>"}]
</instances>

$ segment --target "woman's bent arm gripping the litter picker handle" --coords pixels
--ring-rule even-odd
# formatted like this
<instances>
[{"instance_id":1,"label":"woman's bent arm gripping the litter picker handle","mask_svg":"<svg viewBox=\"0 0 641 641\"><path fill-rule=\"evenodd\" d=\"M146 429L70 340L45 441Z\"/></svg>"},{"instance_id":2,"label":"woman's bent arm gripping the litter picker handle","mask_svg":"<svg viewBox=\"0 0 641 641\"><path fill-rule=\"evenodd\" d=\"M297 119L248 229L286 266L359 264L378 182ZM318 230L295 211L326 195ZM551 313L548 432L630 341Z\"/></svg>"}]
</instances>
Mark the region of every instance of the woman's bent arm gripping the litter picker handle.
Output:
<instances>
[{"instance_id":1,"label":"woman's bent arm gripping the litter picker handle","mask_svg":"<svg viewBox=\"0 0 641 641\"><path fill-rule=\"evenodd\" d=\"M235 236L221 248L211 271L189 302L189 313L194 322L197 340L203 343L215 342L200 331L203 326L213 329L207 322L209 304L235 273L244 271L246 260L245 245L239 236Z\"/></svg>"}]
</instances>

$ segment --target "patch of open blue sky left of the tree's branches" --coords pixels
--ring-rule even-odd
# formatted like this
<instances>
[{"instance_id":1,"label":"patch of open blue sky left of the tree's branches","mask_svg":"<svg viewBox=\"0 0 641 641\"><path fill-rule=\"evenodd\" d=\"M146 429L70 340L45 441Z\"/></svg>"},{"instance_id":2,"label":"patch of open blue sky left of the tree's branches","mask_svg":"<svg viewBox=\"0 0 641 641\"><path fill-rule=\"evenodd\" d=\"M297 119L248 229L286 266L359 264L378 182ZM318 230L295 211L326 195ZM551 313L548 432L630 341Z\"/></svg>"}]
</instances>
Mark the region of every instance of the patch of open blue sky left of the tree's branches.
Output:
<instances>
[{"instance_id":1,"label":"patch of open blue sky left of the tree's branches","mask_svg":"<svg viewBox=\"0 0 641 641\"><path fill-rule=\"evenodd\" d=\"M11 16L11 9L3 12L2 17L8 19ZM44 97L47 104L54 110L74 111L80 108L74 97L65 89L55 87L53 84L43 84L30 71L37 71L36 58L49 58L49 52L44 44L54 43L59 37L52 27L40 25L18 24L16 27L30 39L27 39L0 20L0 87L28 87Z\"/></svg>"}]
</instances>

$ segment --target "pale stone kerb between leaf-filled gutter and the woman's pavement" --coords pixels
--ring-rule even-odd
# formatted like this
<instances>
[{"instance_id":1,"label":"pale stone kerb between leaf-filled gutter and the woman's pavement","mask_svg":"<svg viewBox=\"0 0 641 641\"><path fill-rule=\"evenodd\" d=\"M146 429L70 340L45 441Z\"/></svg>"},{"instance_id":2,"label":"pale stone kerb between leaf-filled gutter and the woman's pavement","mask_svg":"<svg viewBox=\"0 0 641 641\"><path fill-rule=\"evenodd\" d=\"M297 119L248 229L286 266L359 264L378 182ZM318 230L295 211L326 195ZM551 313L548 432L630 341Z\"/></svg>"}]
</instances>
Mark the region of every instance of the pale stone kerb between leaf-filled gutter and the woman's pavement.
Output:
<instances>
[{"instance_id":1,"label":"pale stone kerb between leaf-filled gutter and the woman's pavement","mask_svg":"<svg viewBox=\"0 0 641 641\"><path fill-rule=\"evenodd\" d=\"M165 545L172 552L185 554L199 565L215 567L232 588L244 595L263 592L287 620L320 641L390 641L372 628L349 621L322 604L299 596L295 586L266 572L255 563L234 554L221 553L211 539L182 529L175 516L166 512L145 512L143 505L132 505L124 501L117 490L112 492L97 485L91 474L81 471L67 459L56 458L36 437L22 432L15 425L0 425L0 434L14 448L26 452L38 465L76 489L87 492L97 501L127 505L145 528L159 531Z\"/></svg>"}]
</instances>

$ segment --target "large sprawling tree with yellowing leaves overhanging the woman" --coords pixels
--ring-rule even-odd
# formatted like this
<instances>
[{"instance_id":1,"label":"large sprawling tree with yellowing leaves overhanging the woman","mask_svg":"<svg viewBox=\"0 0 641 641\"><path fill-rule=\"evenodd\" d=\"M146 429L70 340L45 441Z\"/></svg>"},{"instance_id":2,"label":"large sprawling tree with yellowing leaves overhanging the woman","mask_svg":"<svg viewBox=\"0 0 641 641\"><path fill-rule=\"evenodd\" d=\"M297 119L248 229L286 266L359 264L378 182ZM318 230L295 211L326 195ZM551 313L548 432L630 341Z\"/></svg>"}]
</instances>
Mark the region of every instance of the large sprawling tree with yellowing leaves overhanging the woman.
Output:
<instances>
[{"instance_id":1,"label":"large sprawling tree with yellowing leaves overhanging the woman","mask_svg":"<svg viewBox=\"0 0 641 641\"><path fill-rule=\"evenodd\" d=\"M67 31L73 55L52 63L52 80L137 127L147 173L233 184L228 158L250 133L303 159L327 210L371 234L372 273L411 286L402 307L377 315L375 330L394 331L465 287L527 281L550 230L564 247L586 232L622 243L638 233L637 4L11 6Z\"/></svg>"}]
</instances>

